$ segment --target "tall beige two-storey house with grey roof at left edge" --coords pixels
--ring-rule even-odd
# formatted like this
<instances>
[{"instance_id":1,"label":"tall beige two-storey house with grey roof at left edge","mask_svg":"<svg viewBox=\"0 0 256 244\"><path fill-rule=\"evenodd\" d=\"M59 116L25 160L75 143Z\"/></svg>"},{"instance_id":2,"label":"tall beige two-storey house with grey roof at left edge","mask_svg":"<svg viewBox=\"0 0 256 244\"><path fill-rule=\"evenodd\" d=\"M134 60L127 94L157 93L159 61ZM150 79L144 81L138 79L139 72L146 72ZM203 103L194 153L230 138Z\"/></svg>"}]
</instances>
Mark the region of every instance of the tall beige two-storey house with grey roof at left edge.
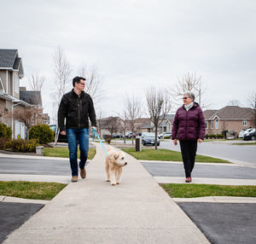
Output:
<instances>
[{"instance_id":1,"label":"tall beige two-storey house with grey roof at left edge","mask_svg":"<svg viewBox=\"0 0 256 244\"><path fill-rule=\"evenodd\" d=\"M20 79L23 77L24 69L18 50L0 49L0 121L11 127L13 138L18 136L26 138L26 126L14 119L15 111L35 107L35 103L22 96L20 92ZM33 96L38 99L41 94ZM41 104L42 108L42 102L38 104Z\"/></svg>"}]
</instances>

